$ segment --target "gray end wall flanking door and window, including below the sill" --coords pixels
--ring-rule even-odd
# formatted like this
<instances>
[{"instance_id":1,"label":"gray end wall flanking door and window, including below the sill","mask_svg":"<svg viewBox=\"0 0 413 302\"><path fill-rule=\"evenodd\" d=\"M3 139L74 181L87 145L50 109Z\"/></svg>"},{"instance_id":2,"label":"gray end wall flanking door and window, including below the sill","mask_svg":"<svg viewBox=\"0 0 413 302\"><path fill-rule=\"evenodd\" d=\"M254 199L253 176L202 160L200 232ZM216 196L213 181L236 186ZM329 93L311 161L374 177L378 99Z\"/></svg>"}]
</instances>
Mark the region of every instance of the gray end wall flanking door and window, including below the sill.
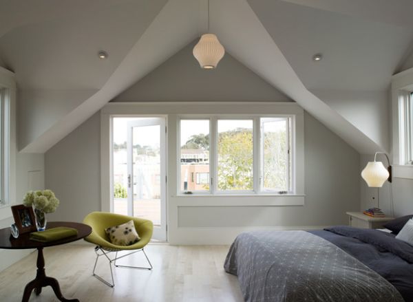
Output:
<instances>
[{"instance_id":1,"label":"gray end wall flanking door and window, including below the sill","mask_svg":"<svg viewBox=\"0 0 413 302\"><path fill-rule=\"evenodd\" d=\"M237 207L231 212L181 213L180 224L199 226L328 226L346 224L359 209L359 153L305 114L305 206ZM95 114L45 154L46 186L61 206L52 219L80 222L100 211L100 119ZM173 177L173 175L169 175ZM198 209L199 210L199 209ZM185 209L183 209L185 211ZM195 210L196 211L196 210Z\"/></svg>"}]
</instances>

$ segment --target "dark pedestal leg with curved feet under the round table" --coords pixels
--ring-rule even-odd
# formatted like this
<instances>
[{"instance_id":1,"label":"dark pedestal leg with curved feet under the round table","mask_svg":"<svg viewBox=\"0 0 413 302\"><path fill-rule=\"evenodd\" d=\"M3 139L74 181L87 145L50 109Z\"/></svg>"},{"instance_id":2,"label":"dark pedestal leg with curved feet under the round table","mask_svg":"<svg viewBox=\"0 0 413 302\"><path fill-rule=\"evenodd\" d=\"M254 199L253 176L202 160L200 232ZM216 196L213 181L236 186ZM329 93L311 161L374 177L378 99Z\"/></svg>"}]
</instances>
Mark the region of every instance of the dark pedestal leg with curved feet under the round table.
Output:
<instances>
[{"instance_id":1,"label":"dark pedestal leg with curved feet under the round table","mask_svg":"<svg viewBox=\"0 0 413 302\"><path fill-rule=\"evenodd\" d=\"M28 302L32 291L37 295L41 293L41 288L45 286L51 286L57 299L63 302L79 302L78 299L65 299L61 293L59 282L52 278L47 277L45 274L45 259L43 257L43 248L37 248L37 273L36 278L25 285L22 302Z\"/></svg>"}]
</instances>

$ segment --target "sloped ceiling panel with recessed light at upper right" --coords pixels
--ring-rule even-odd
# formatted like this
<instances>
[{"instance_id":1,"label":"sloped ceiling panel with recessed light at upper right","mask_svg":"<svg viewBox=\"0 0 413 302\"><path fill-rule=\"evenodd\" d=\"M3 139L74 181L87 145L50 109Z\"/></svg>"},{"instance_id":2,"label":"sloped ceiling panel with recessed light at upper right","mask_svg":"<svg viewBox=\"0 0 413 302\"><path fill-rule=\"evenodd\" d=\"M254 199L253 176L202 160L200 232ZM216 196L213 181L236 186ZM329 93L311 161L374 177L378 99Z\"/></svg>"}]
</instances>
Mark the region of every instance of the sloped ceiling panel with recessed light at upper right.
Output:
<instances>
[{"instance_id":1,"label":"sloped ceiling panel with recessed light at upper right","mask_svg":"<svg viewBox=\"0 0 413 302\"><path fill-rule=\"evenodd\" d=\"M369 1L348 5L349 9L357 7L356 12L340 7L337 11L326 10L332 2L355 1L249 1L307 89L387 89L389 76L411 43L412 18L402 26L396 24L395 14L390 16L396 20L384 19L388 16L384 14L380 22L374 16L364 17L359 13L376 7L373 1L370 6L363 4ZM384 3L388 13L390 2ZM310 6L310 3L319 5ZM362 6L366 8L363 10ZM413 1L407 7L413 12ZM317 52L324 54L324 58L315 64L311 58Z\"/></svg>"}]
</instances>

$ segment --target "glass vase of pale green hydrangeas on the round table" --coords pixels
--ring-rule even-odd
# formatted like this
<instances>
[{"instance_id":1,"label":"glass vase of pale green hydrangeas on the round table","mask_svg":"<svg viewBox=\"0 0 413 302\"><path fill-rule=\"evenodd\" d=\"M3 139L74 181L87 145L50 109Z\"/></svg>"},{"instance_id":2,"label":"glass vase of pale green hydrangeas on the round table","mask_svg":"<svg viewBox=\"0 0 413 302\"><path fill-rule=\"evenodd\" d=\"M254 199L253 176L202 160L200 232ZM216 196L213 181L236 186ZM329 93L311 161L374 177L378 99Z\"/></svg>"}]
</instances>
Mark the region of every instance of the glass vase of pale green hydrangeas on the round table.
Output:
<instances>
[{"instance_id":1,"label":"glass vase of pale green hydrangeas on the round table","mask_svg":"<svg viewBox=\"0 0 413 302\"><path fill-rule=\"evenodd\" d=\"M47 224L45 214L56 211L59 199L51 190L28 191L23 199L23 204L33 207L37 230L45 230Z\"/></svg>"}]
</instances>

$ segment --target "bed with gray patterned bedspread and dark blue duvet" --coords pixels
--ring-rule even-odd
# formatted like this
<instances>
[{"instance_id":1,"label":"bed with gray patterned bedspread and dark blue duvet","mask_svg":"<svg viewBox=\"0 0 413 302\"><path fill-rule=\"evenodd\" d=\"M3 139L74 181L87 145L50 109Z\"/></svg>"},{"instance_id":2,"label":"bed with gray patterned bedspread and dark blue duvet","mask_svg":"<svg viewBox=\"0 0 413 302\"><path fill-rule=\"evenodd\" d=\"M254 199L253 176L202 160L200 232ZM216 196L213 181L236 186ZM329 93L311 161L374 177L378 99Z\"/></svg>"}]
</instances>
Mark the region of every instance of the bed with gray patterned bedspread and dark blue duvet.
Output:
<instances>
[{"instance_id":1,"label":"bed with gray patterned bedspread and dark blue duvet","mask_svg":"<svg viewBox=\"0 0 413 302\"><path fill-rule=\"evenodd\" d=\"M224 269L245 301L413 301L413 246L380 230L335 226L240 234Z\"/></svg>"}]
</instances>

